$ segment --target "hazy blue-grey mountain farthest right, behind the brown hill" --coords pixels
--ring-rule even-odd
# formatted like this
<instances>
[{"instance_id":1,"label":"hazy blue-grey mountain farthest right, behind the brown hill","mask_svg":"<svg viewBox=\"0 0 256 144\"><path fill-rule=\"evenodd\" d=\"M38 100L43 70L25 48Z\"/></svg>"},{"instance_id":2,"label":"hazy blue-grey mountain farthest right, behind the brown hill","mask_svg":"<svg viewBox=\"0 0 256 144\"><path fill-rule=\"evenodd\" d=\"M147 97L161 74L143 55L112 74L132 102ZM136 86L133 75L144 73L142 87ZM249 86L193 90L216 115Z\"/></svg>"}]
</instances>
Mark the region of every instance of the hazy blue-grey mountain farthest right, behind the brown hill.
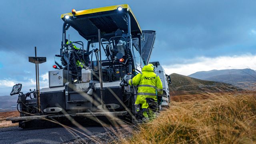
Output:
<instances>
[{"instance_id":1,"label":"hazy blue-grey mountain farthest right, behind the brown hill","mask_svg":"<svg viewBox=\"0 0 256 144\"><path fill-rule=\"evenodd\" d=\"M201 80L225 82L247 90L256 90L256 71L250 68L201 71L188 76Z\"/></svg>"}]
</instances>

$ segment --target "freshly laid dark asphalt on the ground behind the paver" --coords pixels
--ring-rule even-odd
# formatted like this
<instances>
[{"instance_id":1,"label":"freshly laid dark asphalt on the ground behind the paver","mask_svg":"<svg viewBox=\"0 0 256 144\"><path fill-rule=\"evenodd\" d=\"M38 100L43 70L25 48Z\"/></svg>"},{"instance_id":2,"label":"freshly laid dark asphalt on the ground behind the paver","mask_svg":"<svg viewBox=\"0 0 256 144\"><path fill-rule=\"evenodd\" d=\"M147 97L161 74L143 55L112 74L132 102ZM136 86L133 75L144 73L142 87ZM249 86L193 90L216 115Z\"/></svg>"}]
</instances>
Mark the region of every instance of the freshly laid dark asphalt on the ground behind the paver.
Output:
<instances>
[{"instance_id":1,"label":"freshly laid dark asphalt on the ground behind the paver","mask_svg":"<svg viewBox=\"0 0 256 144\"><path fill-rule=\"evenodd\" d=\"M88 136L106 132L102 126L86 126L91 133L88 134L79 128L72 127ZM76 132L78 136L85 137ZM59 144L75 140L73 136L63 127L44 128L44 129L22 129L19 127L0 128L0 144Z\"/></svg>"}]
</instances>

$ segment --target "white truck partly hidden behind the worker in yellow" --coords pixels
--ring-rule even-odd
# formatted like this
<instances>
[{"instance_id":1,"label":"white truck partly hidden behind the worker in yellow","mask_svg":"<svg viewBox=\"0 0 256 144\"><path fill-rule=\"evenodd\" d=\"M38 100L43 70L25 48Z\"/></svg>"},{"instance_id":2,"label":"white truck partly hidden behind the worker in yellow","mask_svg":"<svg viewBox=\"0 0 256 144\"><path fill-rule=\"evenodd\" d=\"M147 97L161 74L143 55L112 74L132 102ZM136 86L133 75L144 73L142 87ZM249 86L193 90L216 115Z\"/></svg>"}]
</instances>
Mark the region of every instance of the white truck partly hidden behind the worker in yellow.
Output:
<instances>
[{"instance_id":1,"label":"white truck partly hidden behind the worker in yellow","mask_svg":"<svg viewBox=\"0 0 256 144\"><path fill-rule=\"evenodd\" d=\"M150 62L154 65L154 72L158 75L163 84L163 100L162 106L169 106L170 105L170 94L169 94L169 87L168 84L171 83L171 77L168 76L164 68L160 65L159 62Z\"/></svg>"}]
</instances>

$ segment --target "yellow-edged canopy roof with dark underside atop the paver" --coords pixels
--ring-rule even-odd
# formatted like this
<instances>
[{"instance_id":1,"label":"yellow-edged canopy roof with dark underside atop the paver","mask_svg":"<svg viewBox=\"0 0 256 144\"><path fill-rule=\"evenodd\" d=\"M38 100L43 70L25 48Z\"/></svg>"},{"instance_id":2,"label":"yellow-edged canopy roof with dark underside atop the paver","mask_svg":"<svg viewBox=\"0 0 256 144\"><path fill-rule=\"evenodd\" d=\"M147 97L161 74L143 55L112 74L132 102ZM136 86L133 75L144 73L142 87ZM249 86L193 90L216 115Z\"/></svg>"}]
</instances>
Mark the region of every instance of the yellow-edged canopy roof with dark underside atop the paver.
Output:
<instances>
[{"instance_id":1,"label":"yellow-edged canopy roof with dark underside atop the paver","mask_svg":"<svg viewBox=\"0 0 256 144\"><path fill-rule=\"evenodd\" d=\"M121 7L122 10L118 10ZM132 10L128 4L94 8L90 10L77 11L73 17L72 13L62 14L62 20L66 21L86 40L98 38L98 29L100 29L102 38L110 38L118 29L128 32L127 16L130 16L131 33L142 33ZM68 15L69 19L65 16Z\"/></svg>"}]
</instances>

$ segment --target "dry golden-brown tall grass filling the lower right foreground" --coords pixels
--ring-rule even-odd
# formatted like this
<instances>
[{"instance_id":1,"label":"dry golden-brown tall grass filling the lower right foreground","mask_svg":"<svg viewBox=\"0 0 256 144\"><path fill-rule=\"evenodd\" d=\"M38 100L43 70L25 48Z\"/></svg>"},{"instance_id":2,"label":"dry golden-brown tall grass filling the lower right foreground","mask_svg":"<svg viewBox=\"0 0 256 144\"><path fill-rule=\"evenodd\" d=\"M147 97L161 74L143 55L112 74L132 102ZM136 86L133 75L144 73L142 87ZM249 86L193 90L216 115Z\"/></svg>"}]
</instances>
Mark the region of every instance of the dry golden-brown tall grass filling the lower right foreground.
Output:
<instances>
[{"instance_id":1,"label":"dry golden-brown tall grass filling the lower right foreground","mask_svg":"<svg viewBox=\"0 0 256 144\"><path fill-rule=\"evenodd\" d=\"M154 121L142 124L124 143L256 143L256 94L212 94L172 102Z\"/></svg>"}]
</instances>

